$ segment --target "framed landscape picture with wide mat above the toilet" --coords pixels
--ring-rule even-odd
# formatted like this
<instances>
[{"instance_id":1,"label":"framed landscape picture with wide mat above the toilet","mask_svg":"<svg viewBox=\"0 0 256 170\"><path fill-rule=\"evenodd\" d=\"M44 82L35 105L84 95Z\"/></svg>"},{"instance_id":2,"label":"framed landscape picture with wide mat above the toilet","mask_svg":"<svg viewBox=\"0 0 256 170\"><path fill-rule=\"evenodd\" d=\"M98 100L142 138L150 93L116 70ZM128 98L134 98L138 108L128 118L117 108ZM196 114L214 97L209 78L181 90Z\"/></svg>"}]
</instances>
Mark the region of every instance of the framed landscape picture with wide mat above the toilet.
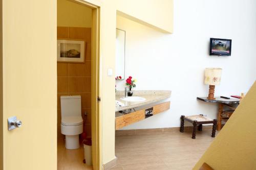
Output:
<instances>
[{"instance_id":1,"label":"framed landscape picture with wide mat above the toilet","mask_svg":"<svg viewBox=\"0 0 256 170\"><path fill-rule=\"evenodd\" d=\"M58 62L84 62L86 53L86 42L76 39L57 40Z\"/></svg>"}]
</instances>

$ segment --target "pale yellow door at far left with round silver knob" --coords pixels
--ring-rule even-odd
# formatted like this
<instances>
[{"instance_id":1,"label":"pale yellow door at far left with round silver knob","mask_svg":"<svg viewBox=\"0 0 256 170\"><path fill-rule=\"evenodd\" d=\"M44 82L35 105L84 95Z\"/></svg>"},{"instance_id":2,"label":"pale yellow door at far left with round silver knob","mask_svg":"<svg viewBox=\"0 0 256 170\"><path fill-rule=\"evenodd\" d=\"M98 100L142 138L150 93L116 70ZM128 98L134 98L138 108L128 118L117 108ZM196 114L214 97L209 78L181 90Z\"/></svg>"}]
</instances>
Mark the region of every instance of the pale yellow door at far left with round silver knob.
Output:
<instances>
[{"instance_id":1,"label":"pale yellow door at far left with round silver knob","mask_svg":"<svg viewBox=\"0 0 256 170\"><path fill-rule=\"evenodd\" d=\"M57 169L57 2L1 2L4 169Z\"/></svg>"}]
</instances>

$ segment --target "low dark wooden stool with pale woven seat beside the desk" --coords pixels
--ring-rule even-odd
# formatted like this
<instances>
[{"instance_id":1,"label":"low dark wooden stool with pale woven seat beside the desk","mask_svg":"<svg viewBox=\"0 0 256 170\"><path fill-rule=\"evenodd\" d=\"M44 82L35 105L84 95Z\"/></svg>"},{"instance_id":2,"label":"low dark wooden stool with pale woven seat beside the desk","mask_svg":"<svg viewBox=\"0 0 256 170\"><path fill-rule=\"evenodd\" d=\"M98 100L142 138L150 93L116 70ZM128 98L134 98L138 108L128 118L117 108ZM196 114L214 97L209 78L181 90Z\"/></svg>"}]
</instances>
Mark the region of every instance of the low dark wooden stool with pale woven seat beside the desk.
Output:
<instances>
[{"instance_id":1,"label":"low dark wooden stool with pale woven seat beside the desk","mask_svg":"<svg viewBox=\"0 0 256 170\"><path fill-rule=\"evenodd\" d=\"M217 127L217 119L212 120L208 117L203 116L202 114L193 115L193 116L184 116L184 115L182 115L180 118L181 118L180 132L184 132L184 120L187 120L188 122L193 124L192 139L196 139L197 125L199 125L198 130L202 131L203 130L203 124L214 124L214 126L212 126L211 137L215 137L216 127Z\"/></svg>"}]
</instances>

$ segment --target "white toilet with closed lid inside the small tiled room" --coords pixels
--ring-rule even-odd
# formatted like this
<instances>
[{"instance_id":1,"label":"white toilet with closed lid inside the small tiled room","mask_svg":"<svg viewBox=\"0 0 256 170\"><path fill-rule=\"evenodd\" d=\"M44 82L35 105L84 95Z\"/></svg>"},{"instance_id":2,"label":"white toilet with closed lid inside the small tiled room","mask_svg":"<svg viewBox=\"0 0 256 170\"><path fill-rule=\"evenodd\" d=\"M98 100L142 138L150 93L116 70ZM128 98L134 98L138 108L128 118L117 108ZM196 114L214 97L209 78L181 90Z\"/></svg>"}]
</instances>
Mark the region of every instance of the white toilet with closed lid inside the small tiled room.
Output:
<instances>
[{"instance_id":1,"label":"white toilet with closed lid inside the small tiled room","mask_svg":"<svg viewBox=\"0 0 256 170\"><path fill-rule=\"evenodd\" d=\"M80 147L79 134L83 131L81 116L81 96L60 96L61 134L65 135L66 149L74 150Z\"/></svg>"}]
</instances>

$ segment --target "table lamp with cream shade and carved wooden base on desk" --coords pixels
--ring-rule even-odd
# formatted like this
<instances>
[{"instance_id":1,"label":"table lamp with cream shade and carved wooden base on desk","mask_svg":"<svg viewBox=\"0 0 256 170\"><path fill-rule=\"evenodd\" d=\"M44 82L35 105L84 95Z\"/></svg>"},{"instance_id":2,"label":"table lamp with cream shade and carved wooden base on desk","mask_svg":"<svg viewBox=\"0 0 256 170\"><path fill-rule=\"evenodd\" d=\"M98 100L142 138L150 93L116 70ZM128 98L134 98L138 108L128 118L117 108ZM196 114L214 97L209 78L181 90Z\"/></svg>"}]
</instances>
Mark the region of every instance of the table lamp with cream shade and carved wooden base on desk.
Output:
<instances>
[{"instance_id":1,"label":"table lamp with cream shade and carved wooden base on desk","mask_svg":"<svg viewBox=\"0 0 256 170\"><path fill-rule=\"evenodd\" d=\"M215 86L219 85L221 82L221 72L221 68L205 68L204 84L209 85L208 100L215 100Z\"/></svg>"}]
</instances>

